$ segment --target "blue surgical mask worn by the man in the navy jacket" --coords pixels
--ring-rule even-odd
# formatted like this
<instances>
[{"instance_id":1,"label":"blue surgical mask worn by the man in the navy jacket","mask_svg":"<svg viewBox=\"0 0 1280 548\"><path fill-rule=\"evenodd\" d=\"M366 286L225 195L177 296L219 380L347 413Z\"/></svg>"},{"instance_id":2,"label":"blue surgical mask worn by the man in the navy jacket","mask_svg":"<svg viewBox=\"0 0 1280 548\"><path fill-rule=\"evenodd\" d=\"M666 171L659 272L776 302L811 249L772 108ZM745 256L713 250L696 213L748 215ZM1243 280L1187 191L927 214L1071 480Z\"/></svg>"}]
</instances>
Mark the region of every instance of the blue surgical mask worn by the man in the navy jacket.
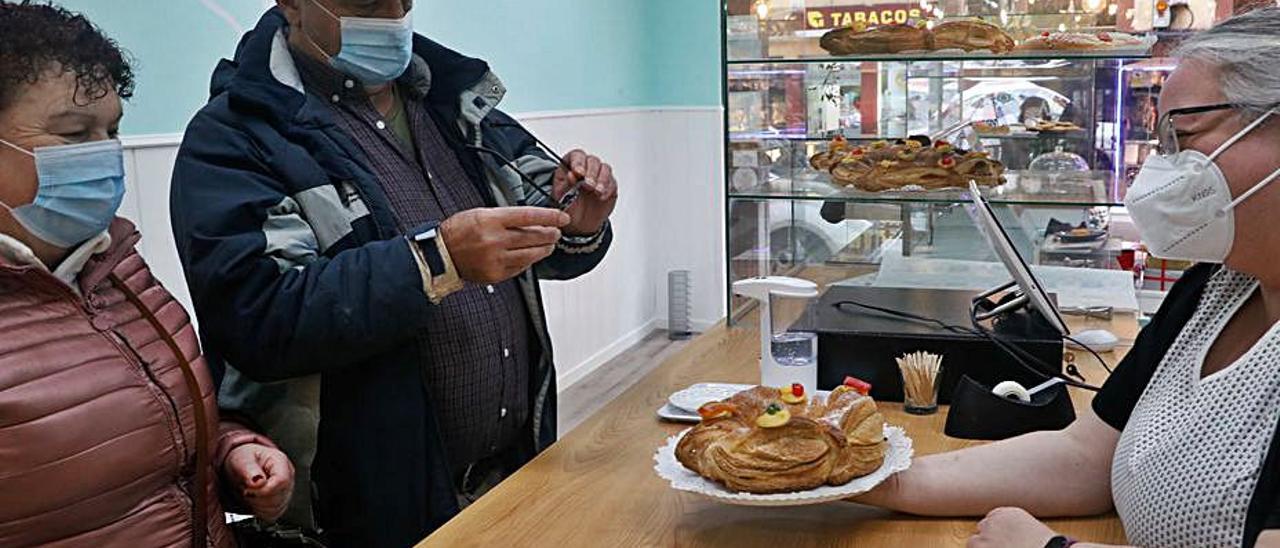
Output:
<instances>
[{"instance_id":1,"label":"blue surgical mask worn by the man in the navy jacket","mask_svg":"<svg viewBox=\"0 0 1280 548\"><path fill-rule=\"evenodd\" d=\"M312 4L338 20L342 28L342 49L329 58L330 67L366 86L384 85L404 74L413 59L411 14L406 13L399 19L338 17L319 1L312 0ZM306 37L311 40L311 35Z\"/></svg>"}]
</instances>

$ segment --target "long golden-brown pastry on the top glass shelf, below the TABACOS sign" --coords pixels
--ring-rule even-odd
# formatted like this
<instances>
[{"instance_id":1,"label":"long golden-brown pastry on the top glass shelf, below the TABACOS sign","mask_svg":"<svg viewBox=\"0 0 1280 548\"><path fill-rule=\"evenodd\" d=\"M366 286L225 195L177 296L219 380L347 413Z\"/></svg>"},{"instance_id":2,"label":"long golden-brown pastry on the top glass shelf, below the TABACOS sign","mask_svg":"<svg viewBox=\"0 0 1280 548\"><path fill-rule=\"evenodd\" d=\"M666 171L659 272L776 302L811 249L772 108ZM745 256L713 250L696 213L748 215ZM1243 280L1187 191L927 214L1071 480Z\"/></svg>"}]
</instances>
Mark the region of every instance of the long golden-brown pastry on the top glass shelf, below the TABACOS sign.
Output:
<instances>
[{"instance_id":1,"label":"long golden-brown pastry on the top glass shelf, below the TABACOS sign","mask_svg":"<svg viewBox=\"0 0 1280 548\"><path fill-rule=\"evenodd\" d=\"M1014 49L1014 38L991 23L961 19L940 23L933 29L911 24L837 28L823 35L819 45L832 55L936 50L987 50L1002 54Z\"/></svg>"}]
</instances>

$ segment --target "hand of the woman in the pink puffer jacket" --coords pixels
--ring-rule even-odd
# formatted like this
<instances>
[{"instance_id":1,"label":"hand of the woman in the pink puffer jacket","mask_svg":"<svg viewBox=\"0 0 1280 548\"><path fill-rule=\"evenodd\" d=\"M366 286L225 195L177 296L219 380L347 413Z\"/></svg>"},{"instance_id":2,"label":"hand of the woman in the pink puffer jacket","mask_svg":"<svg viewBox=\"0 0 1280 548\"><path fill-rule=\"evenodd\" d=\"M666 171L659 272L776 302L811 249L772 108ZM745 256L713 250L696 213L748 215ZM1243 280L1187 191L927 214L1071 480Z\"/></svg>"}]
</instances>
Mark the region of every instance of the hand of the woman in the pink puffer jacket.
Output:
<instances>
[{"instance_id":1,"label":"hand of the woman in the pink puffer jacket","mask_svg":"<svg viewBox=\"0 0 1280 548\"><path fill-rule=\"evenodd\" d=\"M274 522L289 507L293 463L280 449L247 443L232 449L223 467L234 493L253 517Z\"/></svg>"}]
</instances>

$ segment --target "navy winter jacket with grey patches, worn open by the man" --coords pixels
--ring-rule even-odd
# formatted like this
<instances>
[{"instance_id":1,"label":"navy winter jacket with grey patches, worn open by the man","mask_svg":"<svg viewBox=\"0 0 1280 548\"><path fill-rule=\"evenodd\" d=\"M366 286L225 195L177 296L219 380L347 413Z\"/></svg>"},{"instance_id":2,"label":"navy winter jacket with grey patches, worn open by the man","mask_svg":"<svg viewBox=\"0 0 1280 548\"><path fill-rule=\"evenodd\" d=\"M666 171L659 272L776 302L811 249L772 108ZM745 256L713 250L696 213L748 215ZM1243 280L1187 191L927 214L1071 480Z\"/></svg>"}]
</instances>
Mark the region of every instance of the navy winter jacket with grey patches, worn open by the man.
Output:
<instances>
[{"instance_id":1,"label":"navy winter jacket with grey patches, worn open by the man","mask_svg":"<svg viewBox=\"0 0 1280 548\"><path fill-rule=\"evenodd\" d=\"M458 511L416 337L433 305L364 152L303 90L285 27L268 12L215 70L177 159L174 236L221 403L296 462L289 517L314 516L337 545L407 545ZM470 175L462 183L490 206L544 205L462 145L497 149L550 184L556 164L495 110L506 88L489 67L421 36L413 47L433 74L424 104ZM605 232L599 250L558 251L520 277L538 337L532 420L512 465L556 439L538 279L591 270L611 242Z\"/></svg>"}]
</instances>

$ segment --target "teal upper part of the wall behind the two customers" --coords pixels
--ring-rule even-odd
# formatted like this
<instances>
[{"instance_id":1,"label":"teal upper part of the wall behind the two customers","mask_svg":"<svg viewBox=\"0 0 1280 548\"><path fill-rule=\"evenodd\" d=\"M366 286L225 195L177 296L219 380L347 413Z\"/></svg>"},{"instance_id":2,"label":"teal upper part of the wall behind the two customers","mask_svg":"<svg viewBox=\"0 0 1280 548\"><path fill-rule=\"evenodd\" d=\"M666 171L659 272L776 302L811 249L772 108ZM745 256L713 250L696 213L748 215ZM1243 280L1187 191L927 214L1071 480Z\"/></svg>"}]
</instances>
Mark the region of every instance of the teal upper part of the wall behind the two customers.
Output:
<instances>
[{"instance_id":1,"label":"teal upper part of the wall behind the two customers","mask_svg":"<svg viewBox=\"0 0 1280 548\"><path fill-rule=\"evenodd\" d=\"M137 63L124 133L180 132L274 0L54 0ZM719 104L719 0L417 0L419 31L485 58L512 113Z\"/></svg>"}]
</instances>

